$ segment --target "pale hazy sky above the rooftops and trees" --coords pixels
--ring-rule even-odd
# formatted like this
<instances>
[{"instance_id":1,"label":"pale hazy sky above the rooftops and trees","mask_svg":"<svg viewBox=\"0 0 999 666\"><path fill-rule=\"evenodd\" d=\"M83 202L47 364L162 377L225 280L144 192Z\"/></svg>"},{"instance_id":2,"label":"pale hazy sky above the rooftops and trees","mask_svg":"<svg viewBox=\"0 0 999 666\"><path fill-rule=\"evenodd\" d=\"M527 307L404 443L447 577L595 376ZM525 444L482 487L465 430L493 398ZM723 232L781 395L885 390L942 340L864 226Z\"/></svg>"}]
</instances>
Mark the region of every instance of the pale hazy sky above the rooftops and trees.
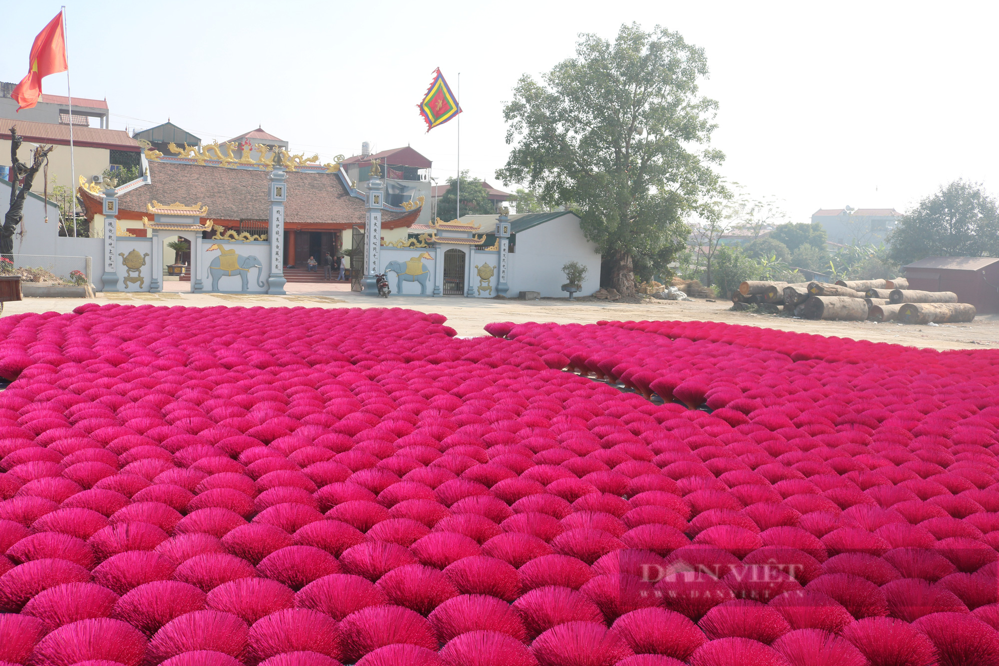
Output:
<instances>
[{"instance_id":1,"label":"pale hazy sky above the rooftops and trees","mask_svg":"<svg viewBox=\"0 0 999 666\"><path fill-rule=\"evenodd\" d=\"M6 6L0 80L27 73L58 11ZM502 108L519 77L571 57L579 33L661 25L705 51L721 174L794 222L846 205L904 212L957 178L999 190L997 20L994 2L67 4L72 92L106 98L112 129L169 118L210 142L260 125L323 162L363 141L412 145L441 181L460 132L461 169L507 191ZM464 113L427 133L417 104L438 67ZM65 76L43 90L65 95Z\"/></svg>"}]
</instances>

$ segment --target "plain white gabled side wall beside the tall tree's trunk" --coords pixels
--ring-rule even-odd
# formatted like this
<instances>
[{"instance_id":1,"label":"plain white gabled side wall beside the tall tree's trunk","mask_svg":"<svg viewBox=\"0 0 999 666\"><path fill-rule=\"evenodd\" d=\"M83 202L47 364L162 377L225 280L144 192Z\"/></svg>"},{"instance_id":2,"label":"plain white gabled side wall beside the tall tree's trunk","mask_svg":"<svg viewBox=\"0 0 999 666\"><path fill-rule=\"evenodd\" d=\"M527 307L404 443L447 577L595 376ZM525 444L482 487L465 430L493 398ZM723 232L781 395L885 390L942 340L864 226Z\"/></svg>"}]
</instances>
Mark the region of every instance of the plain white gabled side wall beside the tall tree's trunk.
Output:
<instances>
[{"instance_id":1,"label":"plain white gabled side wall beside the tall tree's trunk","mask_svg":"<svg viewBox=\"0 0 999 666\"><path fill-rule=\"evenodd\" d=\"M485 225L484 225L485 227ZM569 213L516 234L516 252L509 253L509 291L515 298L521 291L540 292L541 296L566 298L561 290L565 274L561 267L577 261L589 269L579 296L588 296L600 288L600 255L596 246L582 235L579 218Z\"/></svg>"}]
</instances>

